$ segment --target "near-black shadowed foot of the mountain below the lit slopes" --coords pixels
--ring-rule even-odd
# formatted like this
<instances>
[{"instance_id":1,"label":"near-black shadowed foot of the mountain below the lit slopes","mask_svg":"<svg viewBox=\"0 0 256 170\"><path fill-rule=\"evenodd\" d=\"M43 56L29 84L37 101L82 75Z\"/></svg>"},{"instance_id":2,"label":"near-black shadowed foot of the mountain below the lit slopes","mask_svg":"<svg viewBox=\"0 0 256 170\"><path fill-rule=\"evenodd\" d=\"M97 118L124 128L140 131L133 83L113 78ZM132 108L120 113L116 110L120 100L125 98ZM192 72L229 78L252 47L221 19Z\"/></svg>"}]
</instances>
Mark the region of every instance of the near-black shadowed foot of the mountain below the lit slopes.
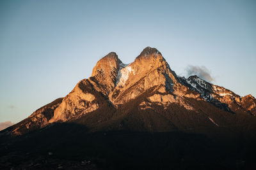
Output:
<instances>
[{"instance_id":1,"label":"near-black shadowed foot of the mountain below the lit slopes","mask_svg":"<svg viewBox=\"0 0 256 170\"><path fill-rule=\"evenodd\" d=\"M255 135L223 136L88 132L84 125L54 124L24 136L1 136L0 168L56 169L61 164L63 169L84 169L83 160L90 160L96 169L250 169Z\"/></svg>"}]
</instances>

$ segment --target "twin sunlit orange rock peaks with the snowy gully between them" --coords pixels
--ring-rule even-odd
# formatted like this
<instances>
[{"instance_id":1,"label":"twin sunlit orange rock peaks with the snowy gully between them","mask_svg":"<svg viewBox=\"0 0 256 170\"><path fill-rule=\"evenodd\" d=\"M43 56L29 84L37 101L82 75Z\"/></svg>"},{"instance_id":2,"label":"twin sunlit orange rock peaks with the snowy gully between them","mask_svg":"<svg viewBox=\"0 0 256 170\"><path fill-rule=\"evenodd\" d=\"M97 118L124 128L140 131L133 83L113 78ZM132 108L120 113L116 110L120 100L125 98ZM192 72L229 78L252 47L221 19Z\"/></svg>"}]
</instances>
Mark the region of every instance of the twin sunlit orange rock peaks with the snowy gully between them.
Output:
<instances>
[{"instance_id":1,"label":"twin sunlit orange rock peaks with the snowy gully between them","mask_svg":"<svg viewBox=\"0 0 256 170\"><path fill-rule=\"evenodd\" d=\"M77 83L76 87L54 112L50 122L67 121L72 117L97 110L99 103L92 92L97 91L116 108L149 89L161 93L177 91L182 85L156 48L147 47L131 64L124 64L115 52L100 59L92 76ZM182 87L186 91L187 87ZM176 89L176 90L174 90ZM99 97L98 97L99 99ZM85 101L85 106L81 101Z\"/></svg>"}]
</instances>

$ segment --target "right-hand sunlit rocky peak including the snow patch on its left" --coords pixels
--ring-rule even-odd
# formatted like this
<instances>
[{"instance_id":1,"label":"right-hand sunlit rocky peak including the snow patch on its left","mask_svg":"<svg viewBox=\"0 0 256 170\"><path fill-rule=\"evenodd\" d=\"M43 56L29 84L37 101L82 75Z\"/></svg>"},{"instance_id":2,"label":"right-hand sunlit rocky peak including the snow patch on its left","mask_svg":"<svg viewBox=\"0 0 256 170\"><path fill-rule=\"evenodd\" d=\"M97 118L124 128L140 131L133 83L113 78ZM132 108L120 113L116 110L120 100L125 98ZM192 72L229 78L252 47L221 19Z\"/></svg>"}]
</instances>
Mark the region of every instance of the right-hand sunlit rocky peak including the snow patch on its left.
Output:
<instances>
[{"instance_id":1,"label":"right-hand sunlit rocky peak including the snow patch on its left","mask_svg":"<svg viewBox=\"0 0 256 170\"><path fill-rule=\"evenodd\" d=\"M174 83L175 76L161 53L147 47L134 62L120 67L116 88L109 99L113 104L124 104L152 87L172 92Z\"/></svg>"}]
</instances>

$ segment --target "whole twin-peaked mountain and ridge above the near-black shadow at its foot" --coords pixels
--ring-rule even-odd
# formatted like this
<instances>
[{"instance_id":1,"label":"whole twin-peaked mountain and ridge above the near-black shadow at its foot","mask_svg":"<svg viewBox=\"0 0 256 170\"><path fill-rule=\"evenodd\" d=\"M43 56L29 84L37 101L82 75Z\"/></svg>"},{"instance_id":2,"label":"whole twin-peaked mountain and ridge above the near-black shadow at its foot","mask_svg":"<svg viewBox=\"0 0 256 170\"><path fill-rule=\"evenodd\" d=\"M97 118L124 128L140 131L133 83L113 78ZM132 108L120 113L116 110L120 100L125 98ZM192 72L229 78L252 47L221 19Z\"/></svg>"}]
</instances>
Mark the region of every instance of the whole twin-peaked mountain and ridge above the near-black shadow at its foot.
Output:
<instances>
[{"instance_id":1,"label":"whole twin-peaked mountain and ridge above the near-black shadow at its foot","mask_svg":"<svg viewBox=\"0 0 256 170\"><path fill-rule=\"evenodd\" d=\"M253 96L241 97L198 76L177 76L156 48L147 47L130 64L108 53L67 96L5 132L20 135L54 122L80 122L92 131L172 131L240 126L255 115ZM241 124L239 117L248 122Z\"/></svg>"}]
</instances>

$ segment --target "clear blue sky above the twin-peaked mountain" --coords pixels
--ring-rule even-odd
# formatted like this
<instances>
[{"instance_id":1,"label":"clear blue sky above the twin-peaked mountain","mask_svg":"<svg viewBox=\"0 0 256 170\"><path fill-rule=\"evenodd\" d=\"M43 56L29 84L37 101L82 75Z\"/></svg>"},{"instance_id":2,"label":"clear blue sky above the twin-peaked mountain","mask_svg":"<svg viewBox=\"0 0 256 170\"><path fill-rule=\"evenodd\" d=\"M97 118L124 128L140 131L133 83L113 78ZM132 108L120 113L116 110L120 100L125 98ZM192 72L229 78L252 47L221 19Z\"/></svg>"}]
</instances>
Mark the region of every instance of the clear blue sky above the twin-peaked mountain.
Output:
<instances>
[{"instance_id":1,"label":"clear blue sky above the twin-peaked mountain","mask_svg":"<svg viewBox=\"0 0 256 170\"><path fill-rule=\"evenodd\" d=\"M156 47L180 75L256 96L256 1L0 1L0 122L19 122L116 52Z\"/></svg>"}]
</instances>

